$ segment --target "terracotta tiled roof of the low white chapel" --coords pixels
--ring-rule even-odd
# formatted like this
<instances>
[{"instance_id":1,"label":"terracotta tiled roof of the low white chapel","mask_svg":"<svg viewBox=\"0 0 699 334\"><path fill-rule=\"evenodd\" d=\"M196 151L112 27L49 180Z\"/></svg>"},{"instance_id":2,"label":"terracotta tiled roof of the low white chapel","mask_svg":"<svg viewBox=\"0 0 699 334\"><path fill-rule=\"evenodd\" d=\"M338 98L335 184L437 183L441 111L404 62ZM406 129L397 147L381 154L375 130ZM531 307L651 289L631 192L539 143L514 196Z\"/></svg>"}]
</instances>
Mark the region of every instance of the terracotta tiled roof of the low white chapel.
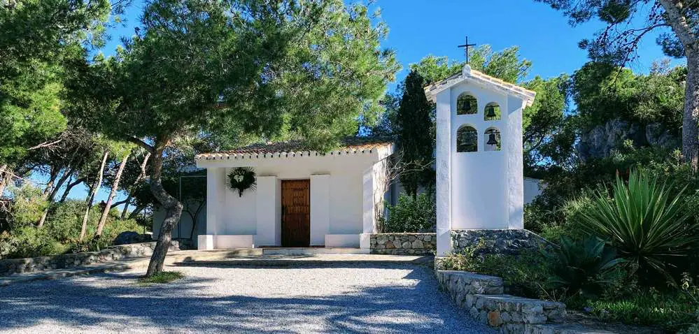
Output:
<instances>
[{"instance_id":1,"label":"terracotta tiled roof of the low white chapel","mask_svg":"<svg viewBox=\"0 0 699 334\"><path fill-rule=\"evenodd\" d=\"M341 140L340 147L330 152L316 152L301 140L275 143L257 143L238 147L235 150L197 154L195 159L222 159L225 157L295 157L303 155L370 153L377 147L393 144L388 138L348 137ZM313 154L311 154L313 153Z\"/></svg>"}]
</instances>

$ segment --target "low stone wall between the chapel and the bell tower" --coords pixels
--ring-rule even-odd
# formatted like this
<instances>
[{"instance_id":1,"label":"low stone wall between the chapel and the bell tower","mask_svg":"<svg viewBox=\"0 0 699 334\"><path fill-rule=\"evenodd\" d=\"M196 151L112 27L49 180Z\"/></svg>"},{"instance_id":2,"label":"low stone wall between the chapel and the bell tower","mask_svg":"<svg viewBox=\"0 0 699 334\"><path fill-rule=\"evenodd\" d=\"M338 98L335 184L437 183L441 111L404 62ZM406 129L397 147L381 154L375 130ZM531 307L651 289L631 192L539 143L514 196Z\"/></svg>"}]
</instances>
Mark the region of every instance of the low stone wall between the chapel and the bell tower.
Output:
<instances>
[{"instance_id":1,"label":"low stone wall between the chapel and the bell tower","mask_svg":"<svg viewBox=\"0 0 699 334\"><path fill-rule=\"evenodd\" d=\"M376 233L370 236L372 254L432 255L437 233Z\"/></svg>"}]
</instances>

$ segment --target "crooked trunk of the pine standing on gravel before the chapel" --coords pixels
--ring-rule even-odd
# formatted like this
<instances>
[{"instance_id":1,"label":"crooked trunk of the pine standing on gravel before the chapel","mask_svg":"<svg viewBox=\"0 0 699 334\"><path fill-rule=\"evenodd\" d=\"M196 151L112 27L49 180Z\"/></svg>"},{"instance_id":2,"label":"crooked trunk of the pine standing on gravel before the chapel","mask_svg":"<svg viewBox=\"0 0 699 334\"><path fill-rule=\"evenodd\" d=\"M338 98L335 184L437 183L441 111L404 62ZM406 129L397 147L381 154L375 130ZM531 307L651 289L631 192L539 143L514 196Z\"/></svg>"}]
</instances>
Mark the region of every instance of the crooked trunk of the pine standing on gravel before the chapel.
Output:
<instances>
[{"instance_id":1,"label":"crooked trunk of the pine standing on gravel before the chapel","mask_svg":"<svg viewBox=\"0 0 699 334\"><path fill-rule=\"evenodd\" d=\"M153 192L153 196L160 202L162 208L165 209L165 218L160 228L160 236L158 236L155 249L153 249L153 256L150 256L146 277L151 277L162 272L165 256L167 255L167 250L170 247L172 239L172 229L175 224L179 222L180 216L182 215L182 203L165 191L164 187L162 187L162 180L160 180L160 175L162 173L162 152L165 143L167 143L167 140L155 143L153 168L150 171L150 191Z\"/></svg>"}]
</instances>

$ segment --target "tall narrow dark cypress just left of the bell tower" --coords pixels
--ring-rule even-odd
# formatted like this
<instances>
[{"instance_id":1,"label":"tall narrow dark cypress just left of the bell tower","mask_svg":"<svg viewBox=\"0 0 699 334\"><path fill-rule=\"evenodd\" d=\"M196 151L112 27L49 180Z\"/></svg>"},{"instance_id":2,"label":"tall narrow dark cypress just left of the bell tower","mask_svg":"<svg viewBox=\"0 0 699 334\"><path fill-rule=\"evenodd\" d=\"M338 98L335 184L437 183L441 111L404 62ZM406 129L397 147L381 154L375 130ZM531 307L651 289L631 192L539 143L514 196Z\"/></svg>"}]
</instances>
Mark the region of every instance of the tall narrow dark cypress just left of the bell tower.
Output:
<instances>
[{"instance_id":1,"label":"tall narrow dark cypress just left of the bell tower","mask_svg":"<svg viewBox=\"0 0 699 334\"><path fill-rule=\"evenodd\" d=\"M420 186L432 187L435 175L431 164L435 133L425 129L425 124L434 122L433 108L423 86L423 78L416 71L405 78L395 124L400 150L397 157L404 168L400 183L411 196L417 194Z\"/></svg>"}]
</instances>

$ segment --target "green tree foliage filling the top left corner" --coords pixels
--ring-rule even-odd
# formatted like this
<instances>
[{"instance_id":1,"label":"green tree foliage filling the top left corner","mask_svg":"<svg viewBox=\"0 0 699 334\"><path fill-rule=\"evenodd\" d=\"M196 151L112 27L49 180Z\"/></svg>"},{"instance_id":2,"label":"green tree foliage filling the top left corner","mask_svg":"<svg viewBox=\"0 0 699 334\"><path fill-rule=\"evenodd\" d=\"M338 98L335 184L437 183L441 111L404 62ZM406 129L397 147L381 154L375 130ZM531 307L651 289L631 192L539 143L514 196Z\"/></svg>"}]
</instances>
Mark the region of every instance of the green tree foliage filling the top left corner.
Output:
<instances>
[{"instance_id":1,"label":"green tree foliage filling the top left corner","mask_svg":"<svg viewBox=\"0 0 699 334\"><path fill-rule=\"evenodd\" d=\"M126 1L125 1L126 2ZM62 131L64 66L101 40L108 1L10 1L0 9L0 164ZM117 8L114 8L117 9Z\"/></svg>"}]
</instances>

